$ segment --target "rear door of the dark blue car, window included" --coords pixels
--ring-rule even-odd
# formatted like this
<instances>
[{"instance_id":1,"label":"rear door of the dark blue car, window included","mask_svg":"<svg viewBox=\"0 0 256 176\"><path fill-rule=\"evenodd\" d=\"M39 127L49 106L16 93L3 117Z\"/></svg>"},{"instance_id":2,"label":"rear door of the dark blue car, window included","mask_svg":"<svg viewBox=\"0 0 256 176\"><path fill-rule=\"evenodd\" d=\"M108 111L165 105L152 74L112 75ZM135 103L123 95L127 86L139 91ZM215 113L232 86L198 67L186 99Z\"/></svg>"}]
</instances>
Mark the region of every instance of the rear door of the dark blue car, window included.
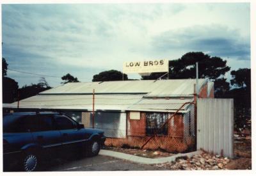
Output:
<instances>
[{"instance_id":1,"label":"rear door of the dark blue car, window included","mask_svg":"<svg viewBox=\"0 0 256 176\"><path fill-rule=\"evenodd\" d=\"M36 118L38 118L38 129L31 132L34 140L46 152L54 152L61 147L61 132L54 124L53 115L37 115Z\"/></svg>"}]
</instances>

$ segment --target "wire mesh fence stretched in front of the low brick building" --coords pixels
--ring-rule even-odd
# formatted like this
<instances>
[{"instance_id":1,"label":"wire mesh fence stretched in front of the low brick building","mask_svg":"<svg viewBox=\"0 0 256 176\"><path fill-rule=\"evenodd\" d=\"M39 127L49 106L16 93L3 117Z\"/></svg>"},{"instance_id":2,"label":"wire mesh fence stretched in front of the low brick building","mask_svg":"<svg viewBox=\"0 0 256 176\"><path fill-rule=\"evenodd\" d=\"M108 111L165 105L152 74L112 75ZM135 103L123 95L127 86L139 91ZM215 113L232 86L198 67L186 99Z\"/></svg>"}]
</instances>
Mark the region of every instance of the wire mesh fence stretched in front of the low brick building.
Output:
<instances>
[{"instance_id":1,"label":"wire mesh fence stretched in front of the low brick building","mask_svg":"<svg viewBox=\"0 0 256 176\"><path fill-rule=\"evenodd\" d=\"M40 99L24 100L20 107L66 109L57 111L66 113L84 127L104 131L108 146L169 152L188 152L195 148L195 105L191 97L97 95L94 118L92 111L72 111L74 107L92 109L93 104L89 101L92 95L47 95ZM109 111L118 108L125 111Z\"/></svg>"}]
</instances>

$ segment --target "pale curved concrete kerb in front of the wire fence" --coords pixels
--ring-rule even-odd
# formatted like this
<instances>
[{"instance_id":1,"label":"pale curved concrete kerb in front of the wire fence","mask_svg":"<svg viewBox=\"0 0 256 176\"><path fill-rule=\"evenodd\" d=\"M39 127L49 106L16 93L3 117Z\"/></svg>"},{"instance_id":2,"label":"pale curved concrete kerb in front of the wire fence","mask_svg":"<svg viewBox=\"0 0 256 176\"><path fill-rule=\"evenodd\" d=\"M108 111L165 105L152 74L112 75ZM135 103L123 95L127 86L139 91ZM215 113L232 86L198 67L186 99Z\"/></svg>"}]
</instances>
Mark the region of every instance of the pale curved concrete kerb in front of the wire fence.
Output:
<instances>
[{"instance_id":1,"label":"pale curved concrete kerb in front of the wire fence","mask_svg":"<svg viewBox=\"0 0 256 176\"><path fill-rule=\"evenodd\" d=\"M147 158L147 157L140 157L140 156L133 156L130 154L124 154L121 152L113 152L110 150L100 150L99 152L100 155L102 156L111 156L111 157L116 157L118 159L124 159L127 161L131 161L134 163L140 163L140 164L161 164L161 163L167 163L167 162L172 162L175 161L177 157L192 157L197 154L202 154L201 150L197 150L195 152L189 152L186 154L176 154L175 156L170 156L170 157L159 157L159 158Z\"/></svg>"}]
</instances>

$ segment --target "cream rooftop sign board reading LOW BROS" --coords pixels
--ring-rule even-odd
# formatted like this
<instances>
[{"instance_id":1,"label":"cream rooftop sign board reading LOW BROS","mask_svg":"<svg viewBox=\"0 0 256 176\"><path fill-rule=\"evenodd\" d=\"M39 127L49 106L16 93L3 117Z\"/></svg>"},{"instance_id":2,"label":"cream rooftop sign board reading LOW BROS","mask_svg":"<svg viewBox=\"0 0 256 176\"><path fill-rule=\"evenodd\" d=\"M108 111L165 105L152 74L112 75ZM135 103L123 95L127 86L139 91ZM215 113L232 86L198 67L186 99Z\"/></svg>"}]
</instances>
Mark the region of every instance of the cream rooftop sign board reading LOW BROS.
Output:
<instances>
[{"instance_id":1,"label":"cream rooftop sign board reading LOW BROS","mask_svg":"<svg viewBox=\"0 0 256 176\"><path fill-rule=\"evenodd\" d=\"M168 72L168 67L168 60L128 61L123 65L123 72L125 74Z\"/></svg>"}]
</instances>

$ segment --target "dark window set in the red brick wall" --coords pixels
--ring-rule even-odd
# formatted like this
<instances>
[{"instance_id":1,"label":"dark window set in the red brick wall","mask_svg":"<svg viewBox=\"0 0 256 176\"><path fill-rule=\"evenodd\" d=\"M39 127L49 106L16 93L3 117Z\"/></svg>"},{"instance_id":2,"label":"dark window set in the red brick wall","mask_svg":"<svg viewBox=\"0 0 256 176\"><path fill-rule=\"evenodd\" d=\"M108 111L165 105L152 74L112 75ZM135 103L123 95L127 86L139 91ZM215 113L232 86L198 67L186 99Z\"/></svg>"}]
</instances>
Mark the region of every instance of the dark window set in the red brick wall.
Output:
<instances>
[{"instance_id":1,"label":"dark window set in the red brick wall","mask_svg":"<svg viewBox=\"0 0 256 176\"><path fill-rule=\"evenodd\" d=\"M160 135L168 134L168 124L164 125L160 129L160 127L166 122L168 119L168 113L146 113L147 117L147 135L152 135L155 132Z\"/></svg>"}]
</instances>

